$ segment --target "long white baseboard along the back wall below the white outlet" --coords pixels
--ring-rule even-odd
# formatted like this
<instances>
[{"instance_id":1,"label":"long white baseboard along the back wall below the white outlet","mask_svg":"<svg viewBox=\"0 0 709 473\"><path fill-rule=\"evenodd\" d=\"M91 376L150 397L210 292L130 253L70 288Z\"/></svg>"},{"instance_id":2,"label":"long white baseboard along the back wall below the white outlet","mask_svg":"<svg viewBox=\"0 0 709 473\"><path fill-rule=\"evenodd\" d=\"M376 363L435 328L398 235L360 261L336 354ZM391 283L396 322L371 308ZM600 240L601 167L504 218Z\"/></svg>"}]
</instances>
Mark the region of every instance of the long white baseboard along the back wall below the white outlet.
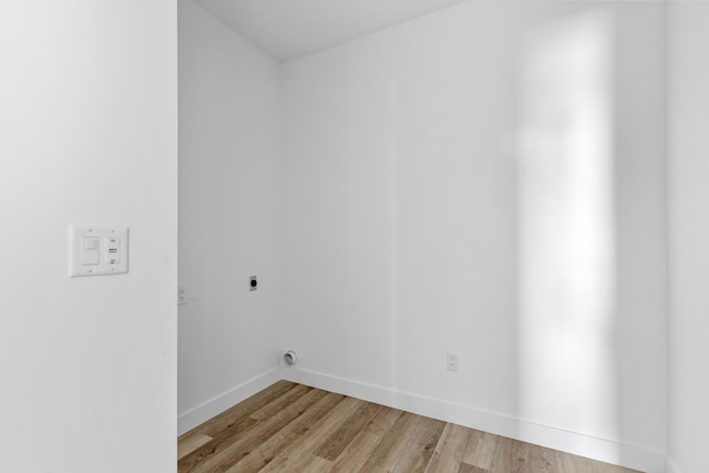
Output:
<instances>
[{"instance_id":1,"label":"long white baseboard along the back wall below the white outlet","mask_svg":"<svg viewBox=\"0 0 709 473\"><path fill-rule=\"evenodd\" d=\"M548 449L561 450L646 473L665 473L666 455L644 446L599 439L496 412L455 404L419 394L333 377L296 367L281 367L281 379L363 399L445 422L477 429ZM672 470L667 470L672 472ZM675 470L674 473L679 473Z\"/></svg>"}]
</instances>

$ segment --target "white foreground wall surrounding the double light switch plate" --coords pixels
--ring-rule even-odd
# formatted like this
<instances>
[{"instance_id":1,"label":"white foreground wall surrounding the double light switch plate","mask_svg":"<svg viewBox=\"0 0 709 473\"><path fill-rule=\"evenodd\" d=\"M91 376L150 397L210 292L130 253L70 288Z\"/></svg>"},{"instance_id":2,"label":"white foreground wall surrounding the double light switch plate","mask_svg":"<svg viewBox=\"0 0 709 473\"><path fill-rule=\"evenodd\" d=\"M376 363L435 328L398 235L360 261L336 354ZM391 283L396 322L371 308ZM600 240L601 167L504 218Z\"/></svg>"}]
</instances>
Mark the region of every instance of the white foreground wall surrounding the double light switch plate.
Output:
<instances>
[{"instance_id":1,"label":"white foreground wall surrounding the double light switch plate","mask_svg":"<svg viewBox=\"0 0 709 473\"><path fill-rule=\"evenodd\" d=\"M0 2L0 463L167 472L176 456L176 6ZM68 276L72 223L130 273Z\"/></svg>"}]
</instances>

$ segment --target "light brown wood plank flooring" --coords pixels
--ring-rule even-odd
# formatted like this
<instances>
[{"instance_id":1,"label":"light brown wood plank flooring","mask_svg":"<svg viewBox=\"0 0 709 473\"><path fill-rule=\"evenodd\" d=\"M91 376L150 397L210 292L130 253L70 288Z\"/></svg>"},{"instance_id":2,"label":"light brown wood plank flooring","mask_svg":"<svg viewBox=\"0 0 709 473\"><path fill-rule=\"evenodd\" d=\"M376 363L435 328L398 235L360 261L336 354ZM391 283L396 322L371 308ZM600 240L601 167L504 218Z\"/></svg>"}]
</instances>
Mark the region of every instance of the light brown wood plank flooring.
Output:
<instances>
[{"instance_id":1,"label":"light brown wood plank flooring","mask_svg":"<svg viewBox=\"0 0 709 473\"><path fill-rule=\"evenodd\" d=\"M279 381L177 440L178 473L631 473Z\"/></svg>"}]
</instances>

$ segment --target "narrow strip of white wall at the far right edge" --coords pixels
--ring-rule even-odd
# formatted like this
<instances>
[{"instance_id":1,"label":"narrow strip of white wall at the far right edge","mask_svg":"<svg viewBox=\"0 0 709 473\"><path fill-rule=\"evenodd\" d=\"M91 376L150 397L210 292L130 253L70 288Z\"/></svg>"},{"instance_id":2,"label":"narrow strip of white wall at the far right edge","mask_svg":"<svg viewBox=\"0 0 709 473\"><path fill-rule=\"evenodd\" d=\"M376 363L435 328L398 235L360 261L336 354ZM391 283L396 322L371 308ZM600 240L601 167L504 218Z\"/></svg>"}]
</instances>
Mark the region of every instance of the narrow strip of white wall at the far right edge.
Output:
<instances>
[{"instance_id":1,"label":"narrow strip of white wall at the far right edge","mask_svg":"<svg viewBox=\"0 0 709 473\"><path fill-rule=\"evenodd\" d=\"M709 444L709 4L672 2L668 23L669 448L675 472L707 469Z\"/></svg>"}]
</instances>

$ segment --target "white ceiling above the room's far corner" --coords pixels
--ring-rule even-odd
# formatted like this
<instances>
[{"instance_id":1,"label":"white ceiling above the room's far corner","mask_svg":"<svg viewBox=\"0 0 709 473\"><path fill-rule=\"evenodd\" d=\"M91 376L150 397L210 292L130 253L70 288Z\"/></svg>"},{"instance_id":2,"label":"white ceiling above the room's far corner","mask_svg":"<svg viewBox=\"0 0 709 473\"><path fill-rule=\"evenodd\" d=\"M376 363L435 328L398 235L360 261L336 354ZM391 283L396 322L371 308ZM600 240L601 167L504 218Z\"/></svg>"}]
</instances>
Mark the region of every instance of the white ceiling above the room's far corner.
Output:
<instances>
[{"instance_id":1,"label":"white ceiling above the room's far corner","mask_svg":"<svg viewBox=\"0 0 709 473\"><path fill-rule=\"evenodd\" d=\"M464 0L196 0L280 62Z\"/></svg>"}]
</instances>

